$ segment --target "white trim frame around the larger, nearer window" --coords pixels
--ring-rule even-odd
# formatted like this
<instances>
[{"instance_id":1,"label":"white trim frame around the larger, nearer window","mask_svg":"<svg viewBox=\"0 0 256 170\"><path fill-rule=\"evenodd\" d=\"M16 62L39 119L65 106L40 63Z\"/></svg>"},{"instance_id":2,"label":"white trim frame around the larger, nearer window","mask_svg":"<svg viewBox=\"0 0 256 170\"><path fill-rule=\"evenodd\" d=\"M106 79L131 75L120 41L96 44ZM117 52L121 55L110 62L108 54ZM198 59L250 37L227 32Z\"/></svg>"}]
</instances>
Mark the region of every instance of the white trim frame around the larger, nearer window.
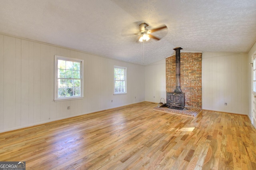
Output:
<instances>
[{"instance_id":1,"label":"white trim frame around the larger, nearer window","mask_svg":"<svg viewBox=\"0 0 256 170\"><path fill-rule=\"evenodd\" d=\"M69 61L78 61L81 62L80 64L80 77L81 77L81 96L76 97L58 97L58 59L64 59ZM68 100L75 100L75 99L83 99L84 98L84 60L83 59L76 59L71 57L63 57L60 55L54 55L54 101L68 101Z\"/></svg>"}]
</instances>

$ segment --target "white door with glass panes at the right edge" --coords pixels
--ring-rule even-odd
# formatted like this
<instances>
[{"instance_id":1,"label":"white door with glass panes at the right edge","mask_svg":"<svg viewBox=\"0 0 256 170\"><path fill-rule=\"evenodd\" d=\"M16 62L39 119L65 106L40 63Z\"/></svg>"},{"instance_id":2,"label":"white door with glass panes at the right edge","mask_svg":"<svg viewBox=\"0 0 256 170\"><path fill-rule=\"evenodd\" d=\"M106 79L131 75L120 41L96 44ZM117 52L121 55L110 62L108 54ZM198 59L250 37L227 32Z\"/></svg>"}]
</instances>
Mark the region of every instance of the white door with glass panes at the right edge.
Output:
<instances>
[{"instance_id":1,"label":"white door with glass panes at the right edge","mask_svg":"<svg viewBox=\"0 0 256 170\"><path fill-rule=\"evenodd\" d=\"M256 55L253 57L252 65L252 125L256 128Z\"/></svg>"}]
</instances>

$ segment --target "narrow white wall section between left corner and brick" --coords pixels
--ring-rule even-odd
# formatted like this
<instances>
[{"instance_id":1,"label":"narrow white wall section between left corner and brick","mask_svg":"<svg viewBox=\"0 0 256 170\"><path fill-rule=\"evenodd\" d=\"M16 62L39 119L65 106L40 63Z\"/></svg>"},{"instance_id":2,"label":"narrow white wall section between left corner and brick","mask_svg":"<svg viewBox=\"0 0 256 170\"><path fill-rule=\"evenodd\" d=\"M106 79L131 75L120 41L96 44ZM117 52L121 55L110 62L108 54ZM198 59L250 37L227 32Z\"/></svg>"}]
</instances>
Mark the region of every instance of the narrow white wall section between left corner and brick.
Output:
<instances>
[{"instance_id":1,"label":"narrow white wall section between left corner and brick","mask_svg":"<svg viewBox=\"0 0 256 170\"><path fill-rule=\"evenodd\" d=\"M145 67L145 100L159 103L161 98L166 102L165 59Z\"/></svg>"}]
</instances>

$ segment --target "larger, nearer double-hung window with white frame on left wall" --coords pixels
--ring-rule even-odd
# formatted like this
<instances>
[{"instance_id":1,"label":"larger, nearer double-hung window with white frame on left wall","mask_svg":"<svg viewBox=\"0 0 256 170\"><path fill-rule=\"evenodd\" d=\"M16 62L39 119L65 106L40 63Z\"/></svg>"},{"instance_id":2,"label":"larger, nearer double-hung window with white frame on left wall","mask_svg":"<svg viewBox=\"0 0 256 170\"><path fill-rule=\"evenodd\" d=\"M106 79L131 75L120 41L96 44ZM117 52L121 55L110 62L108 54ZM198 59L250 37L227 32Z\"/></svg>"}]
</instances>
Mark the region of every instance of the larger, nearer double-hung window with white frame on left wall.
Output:
<instances>
[{"instance_id":1,"label":"larger, nearer double-hung window with white frame on left wall","mask_svg":"<svg viewBox=\"0 0 256 170\"><path fill-rule=\"evenodd\" d=\"M84 60L55 55L54 101L83 98Z\"/></svg>"}]
</instances>

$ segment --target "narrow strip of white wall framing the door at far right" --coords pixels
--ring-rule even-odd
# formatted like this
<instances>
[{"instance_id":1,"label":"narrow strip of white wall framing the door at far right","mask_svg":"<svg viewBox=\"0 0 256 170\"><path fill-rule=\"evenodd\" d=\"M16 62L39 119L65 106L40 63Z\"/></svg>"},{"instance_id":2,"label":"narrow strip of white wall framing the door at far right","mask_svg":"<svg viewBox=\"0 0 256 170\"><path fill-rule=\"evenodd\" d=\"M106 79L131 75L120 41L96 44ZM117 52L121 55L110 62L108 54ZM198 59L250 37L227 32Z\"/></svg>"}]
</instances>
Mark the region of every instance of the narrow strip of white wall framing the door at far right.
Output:
<instances>
[{"instance_id":1,"label":"narrow strip of white wall framing the door at far right","mask_svg":"<svg viewBox=\"0 0 256 170\"><path fill-rule=\"evenodd\" d=\"M247 55L247 63L252 63L252 55L256 54L256 43L252 46ZM252 67L248 67L248 116L252 121L254 127L256 127L256 121L252 119ZM254 118L255 119L255 118Z\"/></svg>"}]
</instances>

